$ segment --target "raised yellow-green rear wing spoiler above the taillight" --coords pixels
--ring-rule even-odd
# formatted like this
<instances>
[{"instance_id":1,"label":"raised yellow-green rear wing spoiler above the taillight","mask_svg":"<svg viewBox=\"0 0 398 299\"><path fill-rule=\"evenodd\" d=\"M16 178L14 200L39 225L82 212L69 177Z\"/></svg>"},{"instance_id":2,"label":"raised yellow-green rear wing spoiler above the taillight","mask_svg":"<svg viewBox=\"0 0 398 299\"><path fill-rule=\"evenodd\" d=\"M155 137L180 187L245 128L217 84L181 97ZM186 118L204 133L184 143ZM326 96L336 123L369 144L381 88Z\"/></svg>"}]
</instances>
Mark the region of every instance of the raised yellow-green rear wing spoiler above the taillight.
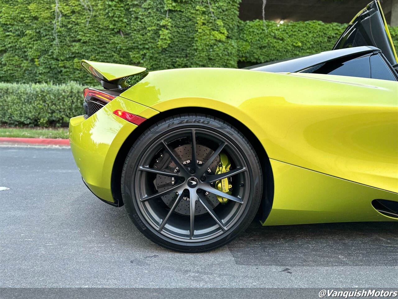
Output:
<instances>
[{"instance_id":1,"label":"raised yellow-green rear wing spoiler above the taillight","mask_svg":"<svg viewBox=\"0 0 398 299\"><path fill-rule=\"evenodd\" d=\"M82 60L81 65L86 72L100 81L102 87L105 89L127 87L126 80L129 77L146 71L145 67L88 60Z\"/></svg>"}]
</instances>

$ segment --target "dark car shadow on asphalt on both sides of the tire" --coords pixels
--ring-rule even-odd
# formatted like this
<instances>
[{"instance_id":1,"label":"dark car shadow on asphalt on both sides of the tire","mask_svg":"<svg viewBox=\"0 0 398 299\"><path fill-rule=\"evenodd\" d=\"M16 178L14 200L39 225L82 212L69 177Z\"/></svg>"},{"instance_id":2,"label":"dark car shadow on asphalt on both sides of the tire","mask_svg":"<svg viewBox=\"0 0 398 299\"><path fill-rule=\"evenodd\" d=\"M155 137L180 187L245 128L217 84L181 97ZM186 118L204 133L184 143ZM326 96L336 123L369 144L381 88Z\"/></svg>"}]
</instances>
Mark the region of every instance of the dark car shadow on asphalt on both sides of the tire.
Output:
<instances>
[{"instance_id":1,"label":"dark car shadow on asphalt on both sides of the tire","mask_svg":"<svg viewBox=\"0 0 398 299\"><path fill-rule=\"evenodd\" d=\"M166 250L138 231L124 207L95 205L89 226L106 232L119 249ZM236 264L252 266L392 266L398 265L397 232L398 222L261 226L255 219L219 250L229 249Z\"/></svg>"}]
</instances>

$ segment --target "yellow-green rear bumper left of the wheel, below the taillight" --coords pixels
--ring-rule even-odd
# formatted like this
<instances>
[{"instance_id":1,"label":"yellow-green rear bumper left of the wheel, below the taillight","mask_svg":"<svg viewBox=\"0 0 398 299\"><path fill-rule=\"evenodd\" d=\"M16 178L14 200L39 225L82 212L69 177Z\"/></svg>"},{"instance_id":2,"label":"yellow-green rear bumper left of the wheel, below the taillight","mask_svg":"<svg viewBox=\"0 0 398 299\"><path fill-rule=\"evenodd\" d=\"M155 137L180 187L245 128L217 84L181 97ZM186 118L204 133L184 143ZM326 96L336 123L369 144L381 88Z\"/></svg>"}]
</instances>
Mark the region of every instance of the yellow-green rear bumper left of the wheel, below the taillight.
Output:
<instances>
[{"instance_id":1,"label":"yellow-green rear bumper left of the wheel, below the taillight","mask_svg":"<svg viewBox=\"0 0 398 299\"><path fill-rule=\"evenodd\" d=\"M117 97L86 119L70 119L70 149L87 187L103 201L119 205L111 190L111 176L119 149L137 126L113 114L120 109L144 118L157 114L156 110L122 97Z\"/></svg>"}]
</instances>

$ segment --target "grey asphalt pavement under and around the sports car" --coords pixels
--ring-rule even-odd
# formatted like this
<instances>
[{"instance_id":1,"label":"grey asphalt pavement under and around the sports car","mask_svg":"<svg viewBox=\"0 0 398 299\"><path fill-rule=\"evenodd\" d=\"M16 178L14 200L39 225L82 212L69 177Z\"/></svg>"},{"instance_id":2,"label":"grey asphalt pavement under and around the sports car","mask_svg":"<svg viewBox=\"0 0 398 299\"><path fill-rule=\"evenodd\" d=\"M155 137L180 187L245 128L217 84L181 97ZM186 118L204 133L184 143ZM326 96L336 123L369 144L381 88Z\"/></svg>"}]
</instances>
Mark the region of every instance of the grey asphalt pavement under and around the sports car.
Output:
<instances>
[{"instance_id":1,"label":"grey asphalt pavement under and around the sports car","mask_svg":"<svg viewBox=\"0 0 398 299\"><path fill-rule=\"evenodd\" d=\"M398 222L254 221L176 253L97 199L69 148L0 147L0 187L0 287L398 287Z\"/></svg>"}]
</instances>

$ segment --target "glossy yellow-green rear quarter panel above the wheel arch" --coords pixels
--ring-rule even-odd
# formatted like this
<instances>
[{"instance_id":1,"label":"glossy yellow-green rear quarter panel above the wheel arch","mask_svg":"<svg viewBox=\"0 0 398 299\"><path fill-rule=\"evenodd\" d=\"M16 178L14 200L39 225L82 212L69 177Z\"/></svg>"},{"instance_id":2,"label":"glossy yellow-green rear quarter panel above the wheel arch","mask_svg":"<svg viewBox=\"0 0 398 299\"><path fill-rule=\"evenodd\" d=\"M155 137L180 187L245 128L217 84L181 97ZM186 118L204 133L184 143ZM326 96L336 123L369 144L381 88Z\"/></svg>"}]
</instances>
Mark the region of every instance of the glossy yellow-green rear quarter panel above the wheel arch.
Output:
<instances>
[{"instance_id":1,"label":"glossy yellow-green rear quarter panel above the wheel arch","mask_svg":"<svg viewBox=\"0 0 398 299\"><path fill-rule=\"evenodd\" d=\"M396 193L397 93L393 81L206 68L150 72L122 96L160 112L220 110L270 159Z\"/></svg>"}]
</instances>

